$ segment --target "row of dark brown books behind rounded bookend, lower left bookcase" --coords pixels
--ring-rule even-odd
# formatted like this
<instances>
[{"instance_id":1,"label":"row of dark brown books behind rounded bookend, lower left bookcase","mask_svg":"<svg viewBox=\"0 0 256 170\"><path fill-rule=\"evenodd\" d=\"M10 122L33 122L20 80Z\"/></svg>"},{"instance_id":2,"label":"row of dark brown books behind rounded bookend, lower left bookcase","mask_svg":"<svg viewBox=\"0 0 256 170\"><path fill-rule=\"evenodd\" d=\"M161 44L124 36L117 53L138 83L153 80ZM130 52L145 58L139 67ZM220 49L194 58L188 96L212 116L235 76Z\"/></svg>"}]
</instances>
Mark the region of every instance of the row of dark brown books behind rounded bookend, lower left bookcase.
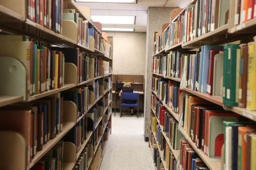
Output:
<instances>
[{"instance_id":1,"label":"row of dark brown books behind rounded bookend, lower left bookcase","mask_svg":"<svg viewBox=\"0 0 256 170\"><path fill-rule=\"evenodd\" d=\"M63 98L60 93L29 103L15 103L0 109L1 130L17 130L27 141L28 164L49 139L63 129Z\"/></svg>"}]
</instances>

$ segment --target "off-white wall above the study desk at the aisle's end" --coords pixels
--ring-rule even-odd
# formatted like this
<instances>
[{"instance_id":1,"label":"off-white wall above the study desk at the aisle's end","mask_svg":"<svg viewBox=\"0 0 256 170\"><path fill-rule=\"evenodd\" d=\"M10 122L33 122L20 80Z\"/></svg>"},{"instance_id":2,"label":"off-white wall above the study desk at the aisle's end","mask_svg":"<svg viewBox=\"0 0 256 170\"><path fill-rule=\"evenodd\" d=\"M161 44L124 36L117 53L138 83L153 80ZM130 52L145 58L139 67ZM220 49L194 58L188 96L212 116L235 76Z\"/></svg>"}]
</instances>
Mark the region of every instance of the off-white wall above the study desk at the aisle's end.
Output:
<instances>
[{"instance_id":1,"label":"off-white wall above the study desk at the aisle's end","mask_svg":"<svg viewBox=\"0 0 256 170\"><path fill-rule=\"evenodd\" d=\"M113 74L145 75L146 33L107 34L113 36Z\"/></svg>"}]
</instances>

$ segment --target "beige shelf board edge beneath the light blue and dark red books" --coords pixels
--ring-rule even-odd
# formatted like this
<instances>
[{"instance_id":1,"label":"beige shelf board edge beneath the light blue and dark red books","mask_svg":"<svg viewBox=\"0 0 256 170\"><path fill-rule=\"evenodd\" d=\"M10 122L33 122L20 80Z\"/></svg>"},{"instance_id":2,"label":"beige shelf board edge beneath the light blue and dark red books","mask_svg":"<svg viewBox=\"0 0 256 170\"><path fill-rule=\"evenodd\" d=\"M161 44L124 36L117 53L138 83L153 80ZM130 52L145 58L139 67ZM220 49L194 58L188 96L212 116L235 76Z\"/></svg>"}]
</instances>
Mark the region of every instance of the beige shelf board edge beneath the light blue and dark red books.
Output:
<instances>
[{"instance_id":1,"label":"beige shelf board edge beneath the light blue and dark red books","mask_svg":"<svg viewBox=\"0 0 256 170\"><path fill-rule=\"evenodd\" d=\"M196 95L198 97L201 97L203 99L206 99L206 100L208 100L208 101L210 101L212 103L215 103L216 105L220 105L220 106L223 105L222 104L222 96L210 96L209 94L199 93L197 91L192 91L192 90L190 90L188 88L183 88L183 90L187 91L187 92L189 92L191 94L194 94L194 95Z\"/></svg>"}]
</instances>

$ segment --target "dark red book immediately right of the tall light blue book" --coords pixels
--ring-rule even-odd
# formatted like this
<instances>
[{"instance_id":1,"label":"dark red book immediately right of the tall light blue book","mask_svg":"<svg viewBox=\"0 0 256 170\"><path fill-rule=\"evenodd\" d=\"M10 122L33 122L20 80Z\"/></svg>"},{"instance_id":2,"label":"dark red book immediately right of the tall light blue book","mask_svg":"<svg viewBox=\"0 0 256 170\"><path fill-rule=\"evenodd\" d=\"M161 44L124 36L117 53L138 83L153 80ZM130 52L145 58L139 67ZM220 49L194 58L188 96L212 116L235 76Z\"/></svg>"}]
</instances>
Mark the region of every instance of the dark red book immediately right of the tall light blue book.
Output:
<instances>
[{"instance_id":1,"label":"dark red book immediately right of the tall light blue book","mask_svg":"<svg viewBox=\"0 0 256 170\"><path fill-rule=\"evenodd\" d=\"M223 51L223 50L210 50L207 94L209 94L211 96L212 96L212 89L213 89L214 56L215 56L215 54L219 54L220 51Z\"/></svg>"}]
</instances>

